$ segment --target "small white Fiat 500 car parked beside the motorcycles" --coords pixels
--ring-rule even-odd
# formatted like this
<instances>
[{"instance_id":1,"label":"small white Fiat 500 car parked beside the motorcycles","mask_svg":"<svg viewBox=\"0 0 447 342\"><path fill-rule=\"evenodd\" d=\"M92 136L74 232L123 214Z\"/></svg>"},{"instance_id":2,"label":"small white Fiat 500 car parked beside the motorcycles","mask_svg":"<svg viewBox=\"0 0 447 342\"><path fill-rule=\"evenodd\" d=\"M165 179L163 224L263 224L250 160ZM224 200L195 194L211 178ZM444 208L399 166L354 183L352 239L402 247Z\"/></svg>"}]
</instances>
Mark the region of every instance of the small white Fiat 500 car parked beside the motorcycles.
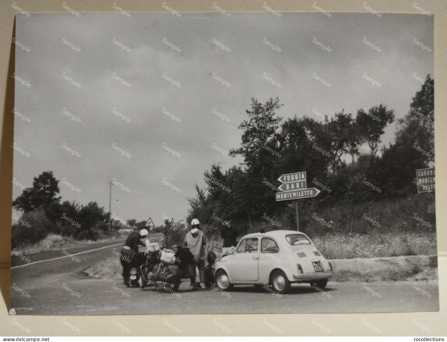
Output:
<instances>
[{"instance_id":1,"label":"small white Fiat 500 car parked beside the motorcycles","mask_svg":"<svg viewBox=\"0 0 447 342\"><path fill-rule=\"evenodd\" d=\"M273 230L243 236L236 250L215 264L215 281L223 291L233 285L271 285L287 293L291 283L310 283L323 290L332 265L309 237L293 230Z\"/></svg>"}]
</instances>

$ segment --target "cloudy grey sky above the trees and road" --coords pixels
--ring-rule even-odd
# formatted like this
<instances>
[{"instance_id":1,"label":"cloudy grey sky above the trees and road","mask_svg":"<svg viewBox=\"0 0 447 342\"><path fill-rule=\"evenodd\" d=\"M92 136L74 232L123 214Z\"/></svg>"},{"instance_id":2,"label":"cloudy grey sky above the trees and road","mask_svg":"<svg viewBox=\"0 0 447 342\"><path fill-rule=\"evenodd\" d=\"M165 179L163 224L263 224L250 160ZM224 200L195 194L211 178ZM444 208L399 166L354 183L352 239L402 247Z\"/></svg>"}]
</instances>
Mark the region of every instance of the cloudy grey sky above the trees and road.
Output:
<instances>
[{"instance_id":1,"label":"cloudy grey sky above the trees and road","mask_svg":"<svg viewBox=\"0 0 447 342\"><path fill-rule=\"evenodd\" d=\"M97 201L106 211L108 182L116 178L131 192L112 186L112 213L123 220L151 216L156 225L163 223L164 213L185 219L186 197L195 196L194 183L205 186L203 172L212 163L228 169L241 161L222 156L213 144L225 151L240 146L237 126L247 118L251 97L265 102L278 96L284 104L278 114L284 118L308 115L321 120L313 108L331 117L343 108L355 114L380 103L401 118L421 87L414 72L433 76L434 17L422 14L54 13L16 18L17 41L30 48L17 51L16 73L31 87L16 82L15 107L31 122L15 118L14 142L31 157L14 153L13 177L32 186L33 177L52 170L61 181L62 200ZM216 46L213 38L231 52ZM314 38L331 51L323 51ZM381 52L373 51L364 38ZM414 38L432 52L423 51ZM79 46L80 52L63 40ZM81 87L65 80L64 72ZM162 78L164 72L181 87ZM281 88L263 78L264 72ZM314 72L331 87L316 81ZM365 80L364 72L381 88ZM120 84L113 73L131 87ZM80 122L63 114L63 108ZM118 118L113 108L131 122ZM163 108L181 122L163 114ZM231 122L213 114L213 108ZM392 141L394 128L387 128L384 143ZM62 148L63 143L80 158ZM122 156L114 143L131 157ZM172 156L164 143L181 157ZM79 186L80 193L62 184L63 178ZM181 192L163 184L164 178ZM20 193L13 185L13 198Z\"/></svg>"}]
</instances>

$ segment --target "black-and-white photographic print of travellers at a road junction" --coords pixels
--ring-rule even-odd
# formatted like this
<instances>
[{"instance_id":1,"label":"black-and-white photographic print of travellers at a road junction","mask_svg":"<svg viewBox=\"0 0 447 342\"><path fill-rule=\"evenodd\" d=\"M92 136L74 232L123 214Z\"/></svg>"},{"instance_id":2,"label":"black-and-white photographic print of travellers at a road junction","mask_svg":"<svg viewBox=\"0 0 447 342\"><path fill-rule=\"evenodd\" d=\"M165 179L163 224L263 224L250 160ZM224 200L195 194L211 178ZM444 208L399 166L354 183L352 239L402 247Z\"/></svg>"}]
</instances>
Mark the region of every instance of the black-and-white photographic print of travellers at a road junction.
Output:
<instances>
[{"instance_id":1,"label":"black-and-white photographic print of travellers at a road junction","mask_svg":"<svg viewBox=\"0 0 447 342\"><path fill-rule=\"evenodd\" d=\"M439 311L434 15L313 4L17 14L11 315Z\"/></svg>"}]
</instances>

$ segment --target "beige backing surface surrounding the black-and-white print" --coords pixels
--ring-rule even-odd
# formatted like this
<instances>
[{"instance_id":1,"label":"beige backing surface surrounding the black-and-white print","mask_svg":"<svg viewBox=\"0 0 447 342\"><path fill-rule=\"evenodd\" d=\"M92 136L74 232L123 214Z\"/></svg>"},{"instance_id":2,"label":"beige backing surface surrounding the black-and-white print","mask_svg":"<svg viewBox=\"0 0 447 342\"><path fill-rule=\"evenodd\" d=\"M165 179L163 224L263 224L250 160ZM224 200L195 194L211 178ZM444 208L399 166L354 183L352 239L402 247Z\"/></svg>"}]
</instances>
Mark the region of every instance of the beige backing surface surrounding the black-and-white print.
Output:
<instances>
[{"instance_id":1,"label":"beige backing surface surrounding the black-and-white print","mask_svg":"<svg viewBox=\"0 0 447 342\"><path fill-rule=\"evenodd\" d=\"M11 246L11 201L13 178L13 149L10 148L13 142L13 97L14 97L14 79L11 75L14 72L14 44L11 42L14 30L14 16L16 14L13 8L13 2L30 13L51 13L62 12L62 0L3 0L0 3L0 105L3 108L1 125L1 145L0 145L0 290L3 301L0 300L0 336L25 336L21 330L11 322L14 316L8 317L9 303L9 262ZM68 0L67 5L80 12L111 12L114 0ZM116 2L116 1L115 1ZM230 13L235 12L263 12L262 4L267 0L257 1L238 1L238 0L126 0L118 1L117 4L132 12L163 12L163 2L167 2L171 8L185 12L214 12L213 2ZM314 0L296 1L296 0L275 0L268 1L270 7L274 7L280 13L284 12L315 12L312 8ZM368 0L367 4L380 13L418 13L413 8L413 0ZM363 1L343 0L328 1L318 0L318 6L325 10L334 12L359 12L364 13L362 7ZM226 334L235 335L271 335L271 336L320 336L326 334L312 324L316 318L319 322L331 327L332 332L329 336L446 336L446 270L447 270L447 232L444 223L446 222L447 212L445 208L446 199L440 194L445 193L447 177L439 170L447 169L446 165L446 122L447 118L443 114L446 112L447 98L443 96L447 93L446 85L446 33L447 33L447 7L443 0L418 0L417 5L434 13L434 79L436 79L435 96L435 146L436 146L436 168L438 177L436 179L436 223L438 234L438 254L439 258L439 299L440 312L405 312L405 313L374 313L374 314L266 314L266 315L139 315L139 316L16 316L16 321L28 326L31 330L28 336L169 336L172 333L163 323L163 318L181 327L181 334L175 336L219 336ZM7 113L5 115L5 113ZM149 304L150 298L148 298ZM342 310L342 308L340 308ZM131 334L121 333L116 327L111 326L110 322L115 317L123 325L129 326ZM79 326L81 334L72 333L62 323L65 318L75 326ZM231 334L222 333L213 323L213 318L225 326L231 327ZM262 319L274 325L281 325L283 331L281 334L267 329L261 324ZM367 326L362 324L366 318L374 322L382 330L381 334L372 332ZM431 334L422 332L420 327L413 324L414 318L419 322L424 322L430 326ZM76 334L76 335L74 335Z\"/></svg>"}]
</instances>

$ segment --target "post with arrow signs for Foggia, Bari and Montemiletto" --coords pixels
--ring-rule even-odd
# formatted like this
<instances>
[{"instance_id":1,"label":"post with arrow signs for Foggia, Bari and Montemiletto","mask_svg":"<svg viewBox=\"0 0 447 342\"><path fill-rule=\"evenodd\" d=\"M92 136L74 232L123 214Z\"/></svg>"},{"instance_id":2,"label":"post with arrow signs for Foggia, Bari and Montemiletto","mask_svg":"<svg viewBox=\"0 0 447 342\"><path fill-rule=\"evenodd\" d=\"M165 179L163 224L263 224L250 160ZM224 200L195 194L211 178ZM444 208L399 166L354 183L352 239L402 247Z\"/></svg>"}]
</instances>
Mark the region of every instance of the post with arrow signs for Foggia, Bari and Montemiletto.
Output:
<instances>
[{"instance_id":1,"label":"post with arrow signs for Foggia, Bari and Montemiletto","mask_svg":"<svg viewBox=\"0 0 447 342\"><path fill-rule=\"evenodd\" d=\"M276 201L295 199L296 230L299 232L298 199L315 197L320 193L320 190L307 188L306 171L283 174L278 178L278 181L283 184L278 186L278 190L281 192L275 194Z\"/></svg>"}]
</instances>

